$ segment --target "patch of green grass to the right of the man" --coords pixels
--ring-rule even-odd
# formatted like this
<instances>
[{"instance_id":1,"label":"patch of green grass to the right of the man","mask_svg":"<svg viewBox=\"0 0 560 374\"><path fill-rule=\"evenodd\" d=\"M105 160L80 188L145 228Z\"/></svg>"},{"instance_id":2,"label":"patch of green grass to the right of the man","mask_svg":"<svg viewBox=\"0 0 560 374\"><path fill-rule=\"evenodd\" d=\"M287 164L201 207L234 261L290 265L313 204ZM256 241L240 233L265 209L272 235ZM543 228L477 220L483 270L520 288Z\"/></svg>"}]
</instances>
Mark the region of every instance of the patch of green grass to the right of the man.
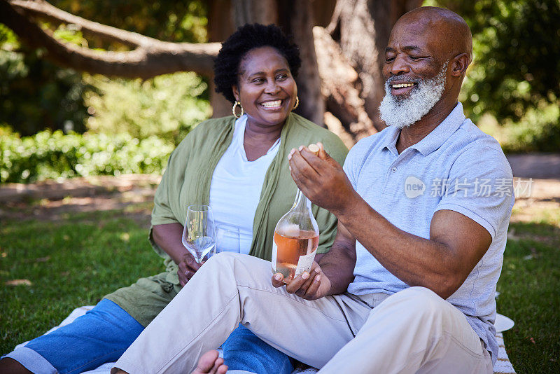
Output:
<instances>
[{"instance_id":1,"label":"patch of green grass to the right of the man","mask_svg":"<svg viewBox=\"0 0 560 374\"><path fill-rule=\"evenodd\" d=\"M515 321L504 332L507 354L517 373L559 373L560 228L538 219L512 229L497 300L498 312Z\"/></svg>"}]
</instances>

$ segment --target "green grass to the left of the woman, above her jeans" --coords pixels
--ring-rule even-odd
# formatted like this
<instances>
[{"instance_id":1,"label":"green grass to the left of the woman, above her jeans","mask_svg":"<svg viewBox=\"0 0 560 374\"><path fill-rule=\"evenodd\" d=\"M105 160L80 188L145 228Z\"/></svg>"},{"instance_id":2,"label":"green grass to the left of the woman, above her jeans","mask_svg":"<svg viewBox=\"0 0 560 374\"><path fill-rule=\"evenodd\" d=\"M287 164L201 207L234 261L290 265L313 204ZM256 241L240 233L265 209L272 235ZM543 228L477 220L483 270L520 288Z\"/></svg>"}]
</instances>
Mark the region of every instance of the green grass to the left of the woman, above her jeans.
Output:
<instances>
[{"instance_id":1,"label":"green grass to the left of the woman, above her jeans","mask_svg":"<svg viewBox=\"0 0 560 374\"><path fill-rule=\"evenodd\" d=\"M80 305L163 269L146 223L123 212L0 222L0 353L41 335ZM10 286L27 279L30 286Z\"/></svg>"}]
</instances>

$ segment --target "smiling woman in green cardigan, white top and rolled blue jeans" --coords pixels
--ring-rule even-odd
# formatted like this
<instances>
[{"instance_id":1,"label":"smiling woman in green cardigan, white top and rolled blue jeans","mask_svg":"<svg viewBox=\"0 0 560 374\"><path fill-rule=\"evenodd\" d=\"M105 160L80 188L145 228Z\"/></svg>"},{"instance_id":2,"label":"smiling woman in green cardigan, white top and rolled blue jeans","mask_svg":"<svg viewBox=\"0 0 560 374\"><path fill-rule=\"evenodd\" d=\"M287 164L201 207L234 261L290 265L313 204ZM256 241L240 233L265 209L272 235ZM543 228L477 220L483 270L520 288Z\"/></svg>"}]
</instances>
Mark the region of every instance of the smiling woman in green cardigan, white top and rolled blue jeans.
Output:
<instances>
[{"instance_id":1,"label":"smiling woman in green cardigan, white top and rolled blue jeans","mask_svg":"<svg viewBox=\"0 0 560 374\"><path fill-rule=\"evenodd\" d=\"M289 150L321 141L340 163L347 152L334 134L291 113L299 102L293 78L299 67L297 46L273 25L240 27L223 43L216 91L232 102L235 116L206 120L190 132L155 193L149 240L166 271L118 289L73 323L15 349L0 361L0 373L80 373L118 359L200 268L181 244L188 205L209 204L217 225L239 227L241 253L271 258L274 226L296 192ZM322 253L334 240L336 219L315 206L313 212ZM285 354L242 326L223 351L230 369L293 369Z\"/></svg>"}]
</instances>

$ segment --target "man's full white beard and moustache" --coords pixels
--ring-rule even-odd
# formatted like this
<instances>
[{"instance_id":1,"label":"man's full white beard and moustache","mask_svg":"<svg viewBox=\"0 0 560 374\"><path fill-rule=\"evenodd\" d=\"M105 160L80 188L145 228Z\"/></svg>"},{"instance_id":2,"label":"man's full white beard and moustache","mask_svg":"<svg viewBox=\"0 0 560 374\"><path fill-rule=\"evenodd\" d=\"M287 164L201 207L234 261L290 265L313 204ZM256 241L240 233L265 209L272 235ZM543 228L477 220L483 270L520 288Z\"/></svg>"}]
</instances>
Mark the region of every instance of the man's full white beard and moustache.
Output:
<instances>
[{"instance_id":1,"label":"man's full white beard and moustache","mask_svg":"<svg viewBox=\"0 0 560 374\"><path fill-rule=\"evenodd\" d=\"M430 79L421 79L416 81L416 87L412 89L409 97L397 99L391 94L390 83L400 81L402 78L392 76L385 82L385 96L381 105L379 105L379 113L381 120L386 125L395 126L400 129L408 127L419 121L426 113L433 108L435 103L440 101L445 85L445 75L447 74L446 61L439 74Z\"/></svg>"}]
</instances>

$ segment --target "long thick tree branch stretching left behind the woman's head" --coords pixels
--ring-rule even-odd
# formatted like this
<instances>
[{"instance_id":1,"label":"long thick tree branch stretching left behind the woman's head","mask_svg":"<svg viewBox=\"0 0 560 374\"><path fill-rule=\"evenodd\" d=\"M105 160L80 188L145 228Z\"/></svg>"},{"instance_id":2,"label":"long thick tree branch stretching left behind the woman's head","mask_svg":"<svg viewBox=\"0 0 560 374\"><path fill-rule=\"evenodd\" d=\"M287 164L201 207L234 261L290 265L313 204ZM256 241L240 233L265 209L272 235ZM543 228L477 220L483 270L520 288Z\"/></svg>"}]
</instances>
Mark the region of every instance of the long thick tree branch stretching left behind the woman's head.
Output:
<instances>
[{"instance_id":1,"label":"long thick tree branch stretching left behind the woman's head","mask_svg":"<svg viewBox=\"0 0 560 374\"><path fill-rule=\"evenodd\" d=\"M45 48L48 52L45 57L49 60L91 74L147 79L176 71L195 71L198 74L209 76L212 74L213 59L221 47L220 43L169 43L159 41L158 39L78 18L90 22L87 27L91 30L99 30L99 27L101 27L102 31L98 33L100 36L103 34L110 37L108 35L111 34L117 37L118 32L122 32L128 42L132 43L134 41L134 43L137 43L135 45L138 46L130 52L100 52L89 48L81 48L55 39L50 30L41 29L27 18L25 14L27 10L12 6L13 2L25 3L28 6L35 3L34 1L13 0L8 2L0 0L1 23L10 27L29 46ZM34 8L32 12L38 14L38 9ZM45 9L48 9L48 7ZM52 9L49 14L54 14ZM57 15L62 18L62 14ZM59 20L60 22L66 22L69 19ZM99 27L96 25L99 25Z\"/></svg>"}]
</instances>

